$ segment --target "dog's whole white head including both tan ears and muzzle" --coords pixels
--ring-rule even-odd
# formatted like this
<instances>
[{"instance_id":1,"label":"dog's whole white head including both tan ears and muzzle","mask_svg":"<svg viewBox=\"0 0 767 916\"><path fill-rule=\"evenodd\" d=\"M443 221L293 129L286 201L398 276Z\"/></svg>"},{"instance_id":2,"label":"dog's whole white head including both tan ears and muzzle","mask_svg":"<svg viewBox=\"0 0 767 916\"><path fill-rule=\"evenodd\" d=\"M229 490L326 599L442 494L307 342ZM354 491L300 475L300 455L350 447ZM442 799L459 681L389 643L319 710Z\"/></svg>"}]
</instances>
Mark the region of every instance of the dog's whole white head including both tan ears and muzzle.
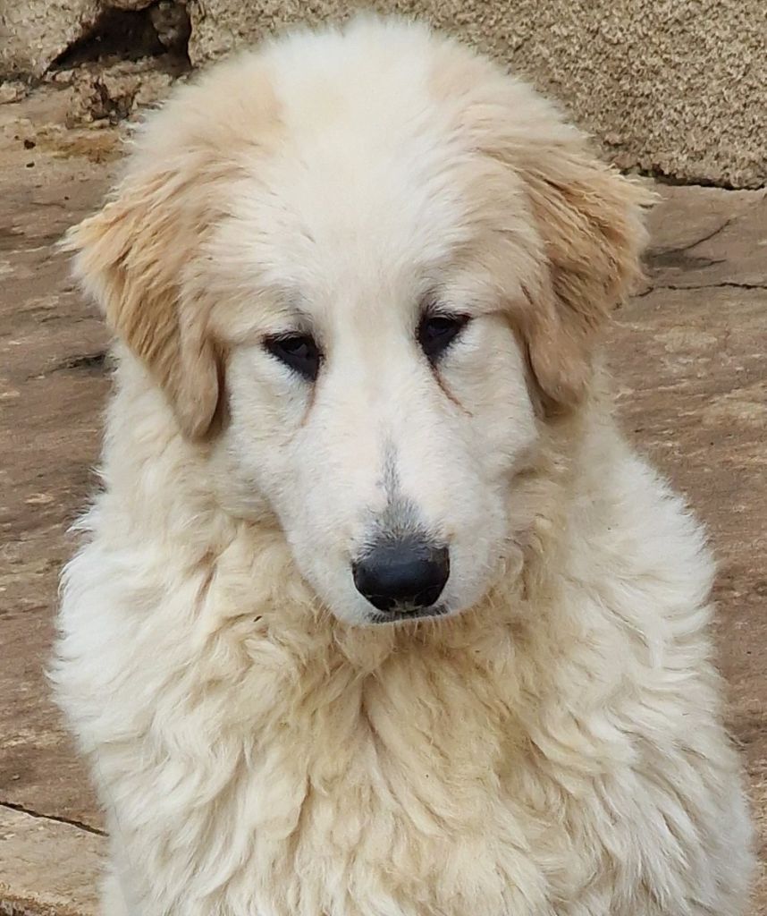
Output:
<instances>
[{"instance_id":1,"label":"dog's whole white head including both tan ears and muzzle","mask_svg":"<svg viewBox=\"0 0 767 916\"><path fill-rule=\"evenodd\" d=\"M367 20L178 92L70 245L221 505L381 622L470 607L518 550L646 197L489 61Z\"/></svg>"}]
</instances>

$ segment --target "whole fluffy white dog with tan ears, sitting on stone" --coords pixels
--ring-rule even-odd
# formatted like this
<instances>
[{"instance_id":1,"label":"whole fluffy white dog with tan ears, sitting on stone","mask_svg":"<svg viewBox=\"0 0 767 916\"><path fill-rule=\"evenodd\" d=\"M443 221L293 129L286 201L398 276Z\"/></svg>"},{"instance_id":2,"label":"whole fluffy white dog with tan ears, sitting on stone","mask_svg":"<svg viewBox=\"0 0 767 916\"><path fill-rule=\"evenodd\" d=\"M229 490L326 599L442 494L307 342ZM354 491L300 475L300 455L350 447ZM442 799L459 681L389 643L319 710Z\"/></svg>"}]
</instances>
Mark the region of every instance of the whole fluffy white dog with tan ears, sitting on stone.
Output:
<instances>
[{"instance_id":1,"label":"whole fluffy white dog with tan ears, sitting on stone","mask_svg":"<svg viewBox=\"0 0 767 916\"><path fill-rule=\"evenodd\" d=\"M119 340L54 670L106 916L736 916L712 564L611 419L646 191L426 28L149 119L70 234Z\"/></svg>"}]
</instances>

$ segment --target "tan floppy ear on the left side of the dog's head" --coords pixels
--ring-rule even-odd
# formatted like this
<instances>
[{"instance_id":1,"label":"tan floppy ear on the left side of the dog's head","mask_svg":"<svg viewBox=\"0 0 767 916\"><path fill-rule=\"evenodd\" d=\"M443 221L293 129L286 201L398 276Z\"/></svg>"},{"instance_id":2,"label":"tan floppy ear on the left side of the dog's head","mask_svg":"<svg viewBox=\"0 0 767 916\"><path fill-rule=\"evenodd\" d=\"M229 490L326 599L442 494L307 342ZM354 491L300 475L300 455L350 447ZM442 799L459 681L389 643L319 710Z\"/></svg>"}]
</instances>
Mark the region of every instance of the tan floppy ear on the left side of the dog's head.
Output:
<instances>
[{"instance_id":1,"label":"tan floppy ear on the left side of the dog's head","mask_svg":"<svg viewBox=\"0 0 767 916\"><path fill-rule=\"evenodd\" d=\"M185 266L205 229L206 196L189 163L139 171L64 243L77 252L74 272L83 288L165 391L191 439L209 430L219 399L207 315L183 289Z\"/></svg>"}]
</instances>

